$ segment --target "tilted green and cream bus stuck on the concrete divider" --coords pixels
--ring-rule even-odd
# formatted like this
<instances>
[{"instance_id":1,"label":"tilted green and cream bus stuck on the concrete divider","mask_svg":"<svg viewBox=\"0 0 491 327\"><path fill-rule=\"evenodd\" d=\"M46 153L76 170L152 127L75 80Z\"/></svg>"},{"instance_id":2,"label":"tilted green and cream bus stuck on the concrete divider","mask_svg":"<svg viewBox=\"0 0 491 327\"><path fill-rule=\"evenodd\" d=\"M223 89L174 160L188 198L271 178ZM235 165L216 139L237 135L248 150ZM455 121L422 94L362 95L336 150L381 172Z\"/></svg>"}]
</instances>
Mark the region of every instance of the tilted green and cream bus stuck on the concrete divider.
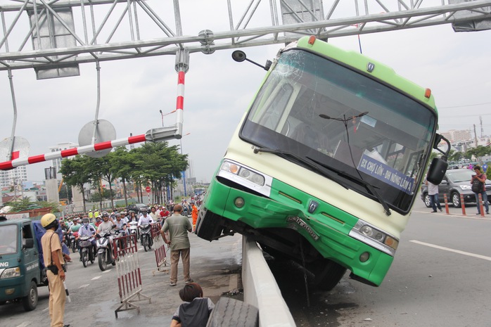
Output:
<instances>
[{"instance_id":1,"label":"tilted green and cream bus stuck on the concrete divider","mask_svg":"<svg viewBox=\"0 0 491 327\"><path fill-rule=\"evenodd\" d=\"M429 89L302 37L268 69L208 188L196 234L250 236L303 264L326 290L346 269L378 286L431 150L446 141L437 122ZM434 181L446 154L432 162Z\"/></svg>"}]
</instances>

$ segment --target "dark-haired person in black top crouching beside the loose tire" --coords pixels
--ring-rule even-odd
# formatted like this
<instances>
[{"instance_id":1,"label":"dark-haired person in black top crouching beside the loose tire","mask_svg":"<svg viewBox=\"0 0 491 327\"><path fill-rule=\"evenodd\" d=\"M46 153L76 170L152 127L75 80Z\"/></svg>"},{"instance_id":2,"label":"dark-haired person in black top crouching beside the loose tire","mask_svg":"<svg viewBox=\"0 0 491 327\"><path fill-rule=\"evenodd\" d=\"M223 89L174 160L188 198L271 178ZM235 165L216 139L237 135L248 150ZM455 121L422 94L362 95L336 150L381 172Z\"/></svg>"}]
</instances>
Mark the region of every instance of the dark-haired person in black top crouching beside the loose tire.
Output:
<instances>
[{"instance_id":1,"label":"dark-haired person in black top crouching beside the loose tire","mask_svg":"<svg viewBox=\"0 0 491 327\"><path fill-rule=\"evenodd\" d=\"M179 290L180 304L172 316L170 327L205 327L215 308L209 297L203 297L203 289L197 283L189 283Z\"/></svg>"}]
</instances>

